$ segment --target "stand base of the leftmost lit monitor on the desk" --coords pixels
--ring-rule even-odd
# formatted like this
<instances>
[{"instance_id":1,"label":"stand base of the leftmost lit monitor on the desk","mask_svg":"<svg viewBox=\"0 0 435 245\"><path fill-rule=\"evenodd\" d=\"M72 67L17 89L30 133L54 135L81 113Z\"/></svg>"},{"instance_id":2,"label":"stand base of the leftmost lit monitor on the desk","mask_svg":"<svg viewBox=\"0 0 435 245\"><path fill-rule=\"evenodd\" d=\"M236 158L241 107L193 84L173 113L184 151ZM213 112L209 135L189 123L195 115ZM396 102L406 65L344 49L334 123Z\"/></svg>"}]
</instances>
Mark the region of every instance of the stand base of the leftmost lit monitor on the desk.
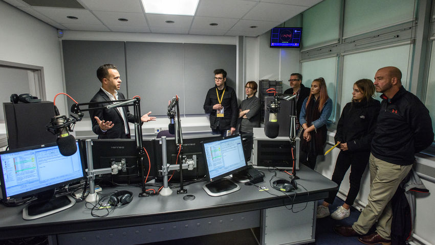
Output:
<instances>
[{"instance_id":1,"label":"stand base of the leftmost lit monitor on the desk","mask_svg":"<svg viewBox=\"0 0 435 245\"><path fill-rule=\"evenodd\" d=\"M60 212L74 206L76 201L70 195L61 195L50 200L31 203L23 209L23 218L32 220Z\"/></svg>"}]
</instances>

